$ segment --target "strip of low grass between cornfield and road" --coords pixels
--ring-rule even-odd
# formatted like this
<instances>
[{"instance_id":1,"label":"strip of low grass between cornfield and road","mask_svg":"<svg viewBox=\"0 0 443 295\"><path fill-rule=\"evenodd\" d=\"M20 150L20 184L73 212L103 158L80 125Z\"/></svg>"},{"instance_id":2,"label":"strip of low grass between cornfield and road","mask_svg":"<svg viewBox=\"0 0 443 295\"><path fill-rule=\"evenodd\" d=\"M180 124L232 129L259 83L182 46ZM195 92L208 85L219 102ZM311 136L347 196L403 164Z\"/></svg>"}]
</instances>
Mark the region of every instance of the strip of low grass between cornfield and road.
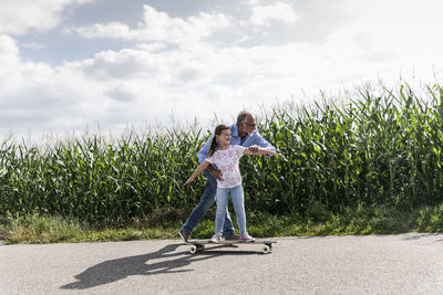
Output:
<instances>
[{"instance_id":1,"label":"strip of low grass between cornfield and road","mask_svg":"<svg viewBox=\"0 0 443 295\"><path fill-rule=\"evenodd\" d=\"M184 219L165 220L153 224L153 220L158 220L158 217L143 221L134 220L125 228L100 229L61 217L34 214L0 224L0 238L4 239L4 244L178 239L177 230ZM214 232L213 220L214 212L209 211L194 230L193 236L210 238ZM443 204L405 212L383 207L363 208L360 206L344 209L341 214L330 213L328 217L323 214L316 219L250 212L247 222L248 232L257 238L434 233L443 231Z\"/></svg>"}]
</instances>

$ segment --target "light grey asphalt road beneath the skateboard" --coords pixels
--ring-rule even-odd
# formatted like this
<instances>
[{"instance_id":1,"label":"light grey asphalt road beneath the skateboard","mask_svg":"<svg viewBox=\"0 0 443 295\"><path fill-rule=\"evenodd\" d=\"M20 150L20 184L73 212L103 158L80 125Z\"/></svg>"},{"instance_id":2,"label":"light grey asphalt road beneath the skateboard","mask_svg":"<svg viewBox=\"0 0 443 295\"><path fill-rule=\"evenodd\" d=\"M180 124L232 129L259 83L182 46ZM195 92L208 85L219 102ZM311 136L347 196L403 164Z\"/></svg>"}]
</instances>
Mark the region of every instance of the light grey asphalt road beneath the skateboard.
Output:
<instances>
[{"instance_id":1,"label":"light grey asphalt road beneath the skateboard","mask_svg":"<svg viewBox=\"0 0 443 295\"><path fill-rule=\"evenodd\" d=\"M443 294L443 234L0 245L0 294Z\"/></svg>"}]
</instances>

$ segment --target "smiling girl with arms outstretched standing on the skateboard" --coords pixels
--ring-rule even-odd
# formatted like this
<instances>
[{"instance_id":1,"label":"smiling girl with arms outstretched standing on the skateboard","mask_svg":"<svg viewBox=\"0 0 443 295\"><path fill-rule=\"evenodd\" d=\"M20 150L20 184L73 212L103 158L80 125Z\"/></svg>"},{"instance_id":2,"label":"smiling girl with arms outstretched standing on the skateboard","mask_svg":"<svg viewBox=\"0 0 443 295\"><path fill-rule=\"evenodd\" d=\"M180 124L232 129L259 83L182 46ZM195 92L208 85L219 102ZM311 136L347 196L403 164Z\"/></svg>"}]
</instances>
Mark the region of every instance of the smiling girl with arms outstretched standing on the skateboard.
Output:
<instances>
[{"instance_id":1,"label":"smiling girl with arms outstretched standing on the skateboard","mask_svg":"<svg viewBox=\"0 0 443 295\"><path fill-rule=\"evenodd\" d=\"M228 206L228 198L233 200L234 210L237 214L238 230L240 232L240 241L254 242L246 231L246 214L244 191L241 186L240 169L238 167L239 159L243 155L269 155L280 156L280 154L253 146L241 147L229 145L230 128L226 125L218 125L215 128L215 136L210 143L207 158L197 167L194 173L185 182L185 186L200 175L209 165L216 165L222 170L223 179L217 179L217 213L215 218L215 234L210 239L213 242L222 241L224 217Z\"/></svg>"}]
</instances>

